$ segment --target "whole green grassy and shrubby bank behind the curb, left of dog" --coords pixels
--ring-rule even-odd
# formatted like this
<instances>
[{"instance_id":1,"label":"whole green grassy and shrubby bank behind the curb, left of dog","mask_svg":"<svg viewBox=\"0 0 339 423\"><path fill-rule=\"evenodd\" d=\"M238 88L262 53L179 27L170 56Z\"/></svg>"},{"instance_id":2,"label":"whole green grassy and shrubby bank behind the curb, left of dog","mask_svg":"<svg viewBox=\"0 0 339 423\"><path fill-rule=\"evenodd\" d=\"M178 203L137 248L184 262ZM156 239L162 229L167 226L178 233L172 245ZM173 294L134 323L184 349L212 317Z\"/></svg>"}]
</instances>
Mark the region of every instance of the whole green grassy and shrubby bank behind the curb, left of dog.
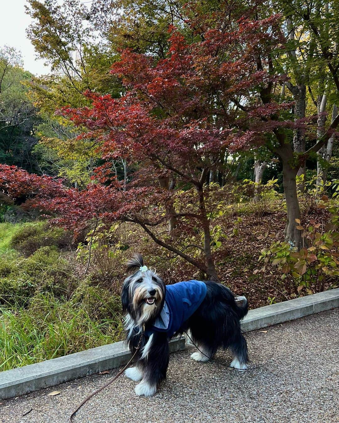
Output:
<instances>
[{"instance_id":1,"label":"whole green grassy and shrubby bank behind the curb, left of dog","mask_svg":"<svg viewBox=\"0 0 339 423\"><path fill-rule=\"evenodd\" d=\"M11 247L19 231L39 225L0 223L0 371L122 339L117 297L74 275L52 247L27 258Z\"/></svg>"}]
</instances>

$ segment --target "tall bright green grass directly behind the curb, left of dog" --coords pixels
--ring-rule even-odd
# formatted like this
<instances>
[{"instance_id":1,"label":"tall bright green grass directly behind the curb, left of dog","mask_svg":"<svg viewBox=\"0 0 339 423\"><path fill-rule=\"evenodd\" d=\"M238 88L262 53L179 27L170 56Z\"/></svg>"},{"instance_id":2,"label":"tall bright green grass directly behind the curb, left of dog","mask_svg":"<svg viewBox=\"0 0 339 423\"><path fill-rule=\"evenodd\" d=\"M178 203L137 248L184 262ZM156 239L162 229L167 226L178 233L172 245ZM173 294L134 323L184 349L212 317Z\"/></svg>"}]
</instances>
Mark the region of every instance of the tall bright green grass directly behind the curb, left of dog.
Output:
<instances>
[{"instance_id":1,"label":"tall bright green grass directly behind the curb, left of dog","mask_svg":"<svg viewBox=\"0 0 339 423\"><path fill-rule=\"evenodd\" d=\"M122 330L119 313L97 320L81 304L41 294L29 308L0 308L0 371L119 341Z\"/></svg>"}]
</instances>

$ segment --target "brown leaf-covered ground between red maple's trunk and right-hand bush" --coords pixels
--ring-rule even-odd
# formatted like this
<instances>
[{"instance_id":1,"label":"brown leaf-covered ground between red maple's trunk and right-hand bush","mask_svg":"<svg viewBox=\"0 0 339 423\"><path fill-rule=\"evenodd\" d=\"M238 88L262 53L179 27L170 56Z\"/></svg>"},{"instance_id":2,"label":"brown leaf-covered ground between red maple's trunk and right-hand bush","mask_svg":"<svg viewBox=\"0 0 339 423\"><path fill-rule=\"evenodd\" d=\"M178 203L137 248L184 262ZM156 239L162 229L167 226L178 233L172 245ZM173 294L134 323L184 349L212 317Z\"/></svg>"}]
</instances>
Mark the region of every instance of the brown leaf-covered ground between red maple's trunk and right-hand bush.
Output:
<instances>
[{"instance_id":1,"label":"brown leaf-covered ground between red maple's trunk and right-hand bush","mask_svg":"<svg viewBox=\"0 0 339 423\"><path fill-rule=\"evenodd\" d=\"M328 213L317 209L307 221L310 219L326 224ZM272 241L283 241L285 223L286 212L283 210L264 215L260 222L254 222L252 215L244 215L239 236L226 242L229 256L219 267L220 278L234 293L245 295L250 308L295 298L286 289L281 274L273 266L267 266L262 272L263 262L258 261L263 248L270 247Z\"/></svg>"}]
</instances>

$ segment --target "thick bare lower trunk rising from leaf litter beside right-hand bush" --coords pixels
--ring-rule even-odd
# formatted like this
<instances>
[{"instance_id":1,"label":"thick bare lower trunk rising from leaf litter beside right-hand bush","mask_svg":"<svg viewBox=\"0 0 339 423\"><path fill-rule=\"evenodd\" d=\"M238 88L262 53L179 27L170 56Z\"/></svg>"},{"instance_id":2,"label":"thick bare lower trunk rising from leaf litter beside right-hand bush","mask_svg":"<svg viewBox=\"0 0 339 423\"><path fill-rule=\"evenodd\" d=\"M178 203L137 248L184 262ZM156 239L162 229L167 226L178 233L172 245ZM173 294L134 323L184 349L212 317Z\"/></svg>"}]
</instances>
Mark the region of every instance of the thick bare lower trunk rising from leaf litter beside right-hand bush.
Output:
<instances>
[{"instance_id":1,"label":"thick bare lower trunk rising from leaf litter beside right-hand bush","mask_svg":"<svg viewBox=\"0 0 339 423\"><path fill-rule=\"evenodd\" d=\"M297 197L297 184L295 177L297 169L291 168L289 161L283 159L283 189L286 197L287 208L287 222L284 230L285 241L291 247L296 247L298 250L306 246L304 242L306 239L301 237L301 231L297 229L297 222L295 219L300 219L300 209Z\"/></svg>"}]
</instances>

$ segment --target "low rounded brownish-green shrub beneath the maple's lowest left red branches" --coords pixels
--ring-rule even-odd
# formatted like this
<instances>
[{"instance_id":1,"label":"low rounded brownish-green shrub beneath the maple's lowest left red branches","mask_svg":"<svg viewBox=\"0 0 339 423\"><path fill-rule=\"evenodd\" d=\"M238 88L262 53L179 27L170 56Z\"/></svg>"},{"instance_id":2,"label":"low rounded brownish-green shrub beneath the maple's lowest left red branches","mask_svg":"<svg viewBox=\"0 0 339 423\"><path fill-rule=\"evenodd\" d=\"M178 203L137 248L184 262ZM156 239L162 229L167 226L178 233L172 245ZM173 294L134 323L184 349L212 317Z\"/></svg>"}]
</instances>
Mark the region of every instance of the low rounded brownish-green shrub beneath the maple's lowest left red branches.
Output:
<instances>
[{"instance_id":1,"label":"low rounded brownish-green shrub beneath the maple's lowest left red branches","mask_svg":"<svg viewBox=\"0 0 339 423\"><path fill-rule=\"evenodd\" d=\"M74 246L72 235L61 228L53 228L48 222L22 225L11 239L11 246L26 257L40 247L57 247L58 250Z\"/></svg>"}]
</instances>

